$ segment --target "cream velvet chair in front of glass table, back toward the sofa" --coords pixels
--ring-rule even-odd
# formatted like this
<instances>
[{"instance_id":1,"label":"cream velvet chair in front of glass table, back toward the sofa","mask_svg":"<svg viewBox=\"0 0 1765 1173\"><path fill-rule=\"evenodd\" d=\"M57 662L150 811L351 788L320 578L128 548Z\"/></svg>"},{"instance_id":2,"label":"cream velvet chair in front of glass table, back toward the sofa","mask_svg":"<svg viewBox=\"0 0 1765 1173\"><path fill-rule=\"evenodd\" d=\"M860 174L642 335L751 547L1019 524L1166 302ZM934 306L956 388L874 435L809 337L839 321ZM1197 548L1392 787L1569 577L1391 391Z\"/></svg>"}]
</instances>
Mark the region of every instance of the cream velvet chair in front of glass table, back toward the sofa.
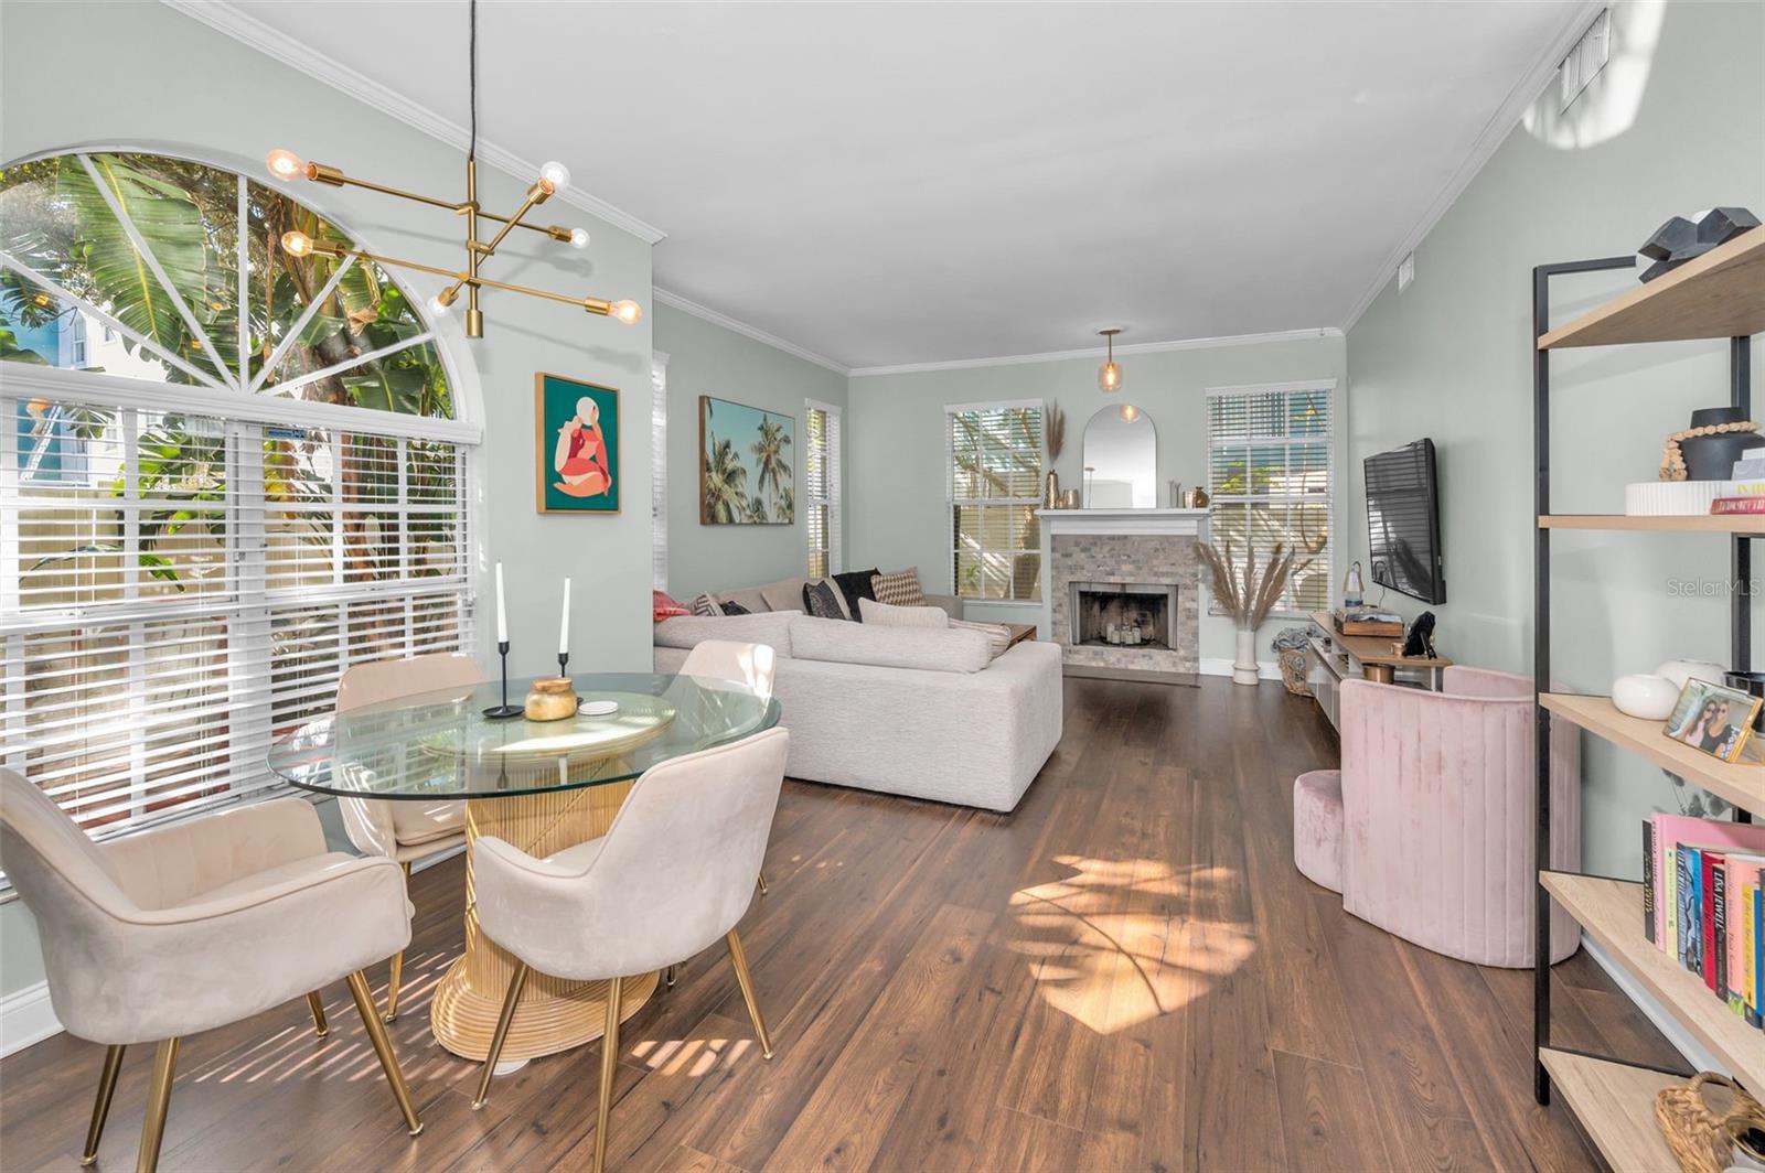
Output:
<instances>
[{"instance_id":1,"label":"cream velvet chair in front of glass table, back toward the sofa","mask_svg":"<svg viewBox=\"0 0 1765 1173\"><path fill-rule=\"evenodd\" d=\"M607 981L593 1166L600 1173L620 1065L623 979L690 958L718 937L729 945L761 1055L771 1058L771 1037L736 923L748 908L766 855L789 744L791 734L768 728L653 766L632 787L607 834L547 859L494 836L477 841L478 928L515 954L517 965L473 1108L482 1108L491 1094L496 1058L530 970L567 981Z\"/></svg>"}]
</instances>

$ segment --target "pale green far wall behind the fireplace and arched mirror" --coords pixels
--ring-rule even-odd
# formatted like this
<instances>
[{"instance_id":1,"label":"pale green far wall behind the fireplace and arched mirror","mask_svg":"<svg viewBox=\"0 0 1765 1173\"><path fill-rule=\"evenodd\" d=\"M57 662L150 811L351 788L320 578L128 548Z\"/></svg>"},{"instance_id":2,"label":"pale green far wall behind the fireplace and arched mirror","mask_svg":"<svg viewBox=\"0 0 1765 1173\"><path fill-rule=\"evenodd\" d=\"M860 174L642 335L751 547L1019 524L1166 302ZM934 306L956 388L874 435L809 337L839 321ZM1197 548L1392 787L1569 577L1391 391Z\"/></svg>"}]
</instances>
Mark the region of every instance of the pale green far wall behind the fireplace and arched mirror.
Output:
<instances>
[{"instance_id":1,"label":"pale green far wall behind the fireplace and arched mirror","mask_svg":"<svg viewBox=\"0 0 1765 1173\"><path fill-rule=\"evenodd\" d=\"M1205 485L1209 386L1341 379L1347 367L1343 339L1334 335L1124 355L1123 390L1103 395L1096 385L1100 362L1101 358L1073 358L852 379L845 439L851 564L875 564L882 570L918 566L925 589L951 591L944 445L948 404L1004 399L1059 404L1066 413L1066 446L1054 467L1061 487L1068 489L1080 485L1084 429L1091 415L1107 404L1133 402L1158 427L1158 503L1165 506L1167 482ZM1343 524L1345 520L1338 520L1338 533ZM1333 573L1331 579L1340 575ZM1040 605L1010 603L967 603L964 614L997 623L1036 623L1041 617ZM1267 624L1258 640L1258 658L1274 658L1267 635L1287 623ZM1232 658L1230 619L1202 617L1200 654L1204 660Z\"/></svg>"}]
</instances>

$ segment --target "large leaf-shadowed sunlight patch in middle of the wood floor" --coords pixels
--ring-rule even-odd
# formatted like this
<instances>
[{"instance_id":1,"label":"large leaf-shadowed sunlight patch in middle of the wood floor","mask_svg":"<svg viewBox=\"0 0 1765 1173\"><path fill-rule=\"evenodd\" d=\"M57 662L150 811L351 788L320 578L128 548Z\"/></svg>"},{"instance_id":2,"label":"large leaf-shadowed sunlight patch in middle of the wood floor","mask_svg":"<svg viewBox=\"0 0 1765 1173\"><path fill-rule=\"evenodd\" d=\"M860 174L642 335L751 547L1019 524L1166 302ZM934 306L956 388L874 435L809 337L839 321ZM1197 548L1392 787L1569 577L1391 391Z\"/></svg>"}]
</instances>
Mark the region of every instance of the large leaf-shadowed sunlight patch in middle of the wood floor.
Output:
<instances>
[{"instance_id":1,"label":"large leaf-shadowed sunlight patch in middle of the wood floor","mask_svg":"<svg viewBox=\"0 0 1765 1173\"><path fill-rule=\"evenodd\" d=\"M1241 884L1230 868L1175 871L1156 859L1055 855L1064 880L1011 894L1038 993L1098 1034L1168 1014L1257 951L1248 924L1188 915L1197 893ZM1204 900L1205 903L1205 900Z\"/></svg>"}]
</instances>

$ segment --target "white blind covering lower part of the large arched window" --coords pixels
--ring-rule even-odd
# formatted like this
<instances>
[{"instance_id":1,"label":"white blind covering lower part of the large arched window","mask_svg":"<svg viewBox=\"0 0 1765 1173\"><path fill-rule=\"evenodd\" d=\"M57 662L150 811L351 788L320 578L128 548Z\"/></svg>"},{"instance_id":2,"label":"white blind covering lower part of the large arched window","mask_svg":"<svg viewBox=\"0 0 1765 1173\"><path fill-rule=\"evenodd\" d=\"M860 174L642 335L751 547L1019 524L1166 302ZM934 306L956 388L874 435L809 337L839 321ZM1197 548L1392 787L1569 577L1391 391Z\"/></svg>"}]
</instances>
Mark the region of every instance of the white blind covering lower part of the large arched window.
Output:
<instances>
[{"instance_id":1,"label":"white blind covering lower part of the large arched window","mask_svg":"<svg viewBox=\"0 0 1765 1173\"><path fill-rule=\"evenodd\" d=\"M275 785L364 660L469 639L468 450L0 395L4 764L88 833Z\"/></svg>"}]
</instances>

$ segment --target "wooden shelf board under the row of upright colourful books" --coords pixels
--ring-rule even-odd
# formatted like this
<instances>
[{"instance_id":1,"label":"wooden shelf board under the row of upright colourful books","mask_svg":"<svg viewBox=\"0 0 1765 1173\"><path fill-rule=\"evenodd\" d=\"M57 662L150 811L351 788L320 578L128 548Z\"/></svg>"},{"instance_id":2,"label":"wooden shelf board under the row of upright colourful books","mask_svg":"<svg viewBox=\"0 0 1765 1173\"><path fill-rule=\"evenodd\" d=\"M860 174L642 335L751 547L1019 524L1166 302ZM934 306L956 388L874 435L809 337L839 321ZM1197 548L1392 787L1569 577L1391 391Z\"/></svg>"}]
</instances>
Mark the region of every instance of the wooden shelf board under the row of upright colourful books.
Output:
<instances>
[{"instance_id":1,"label":"wooden shelf board under the row of upright colourful books","mask_svg":"<svg viewBox=\"0 0 1765 1173\"><path fill-rule=\"evenodd\" d=\"M1747 1027L1703 979L1643 937L1643 885L1567 871L1541 871L1557 898L1686 1030L1747 1088L1765 1088L1765 1032Z\"/></svg>"}]
</instances>

